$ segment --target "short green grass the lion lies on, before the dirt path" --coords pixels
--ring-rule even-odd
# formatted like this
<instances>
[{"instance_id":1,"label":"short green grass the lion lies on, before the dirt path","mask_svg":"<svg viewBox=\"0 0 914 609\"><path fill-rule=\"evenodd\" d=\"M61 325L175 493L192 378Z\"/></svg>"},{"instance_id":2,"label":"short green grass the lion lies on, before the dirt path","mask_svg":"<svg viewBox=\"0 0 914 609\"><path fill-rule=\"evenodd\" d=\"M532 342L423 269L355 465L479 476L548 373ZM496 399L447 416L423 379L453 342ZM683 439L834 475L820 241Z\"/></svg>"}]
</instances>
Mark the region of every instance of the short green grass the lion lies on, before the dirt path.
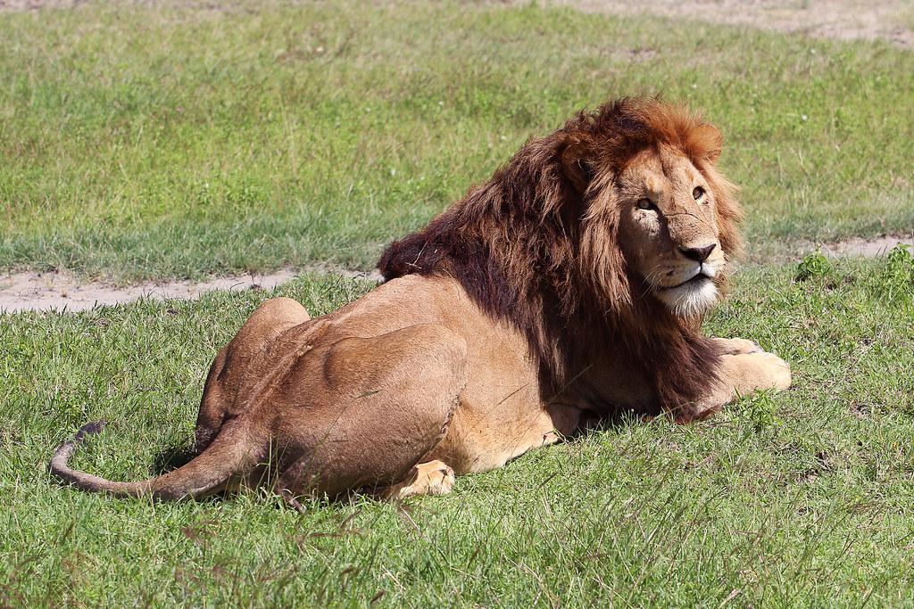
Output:
<instances>
[{"instance_id":1,"label":"short green grass the lion lies on, before the dirt path","mask_svg":"<svg viewBox=\"0 0 914 609\"><path fill-rule=\"evenodd\" d=\"M764 289L760 289L764 286ZM277 293L324 313L366 284ZM53 446L150 475L208 363L269 295L143 301L0 325L0 604L870 606L914 597L914 259L742 272L707 321L792 363L785 394L705 423L626 419L402 507L266 492L152 504L63 488Z\"/></svg>"}]
</instances>

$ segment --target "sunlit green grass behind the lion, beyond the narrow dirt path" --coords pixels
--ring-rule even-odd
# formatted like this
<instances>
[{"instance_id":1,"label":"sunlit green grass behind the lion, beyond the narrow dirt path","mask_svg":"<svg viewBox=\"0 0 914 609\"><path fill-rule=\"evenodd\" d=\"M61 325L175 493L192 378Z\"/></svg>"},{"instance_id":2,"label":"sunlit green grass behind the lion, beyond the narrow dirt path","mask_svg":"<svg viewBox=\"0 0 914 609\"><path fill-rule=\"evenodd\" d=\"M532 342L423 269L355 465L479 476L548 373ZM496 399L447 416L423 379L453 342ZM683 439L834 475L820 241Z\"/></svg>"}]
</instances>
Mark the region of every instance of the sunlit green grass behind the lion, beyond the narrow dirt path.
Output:
<instances>
[{"instance_id":1,"label":"sunlit green grass behind the lion, beyond the narrow dirt path","mask_svg":"<svg viewBox=\"0 0 914 609\"><path fill-rule=\"evenodd\" d=\"M536 6L0 13L0 268L117 280L369 268L531 134L703 108L749 243L914 226L914 54Z\"/></svg>"}]
</instances>

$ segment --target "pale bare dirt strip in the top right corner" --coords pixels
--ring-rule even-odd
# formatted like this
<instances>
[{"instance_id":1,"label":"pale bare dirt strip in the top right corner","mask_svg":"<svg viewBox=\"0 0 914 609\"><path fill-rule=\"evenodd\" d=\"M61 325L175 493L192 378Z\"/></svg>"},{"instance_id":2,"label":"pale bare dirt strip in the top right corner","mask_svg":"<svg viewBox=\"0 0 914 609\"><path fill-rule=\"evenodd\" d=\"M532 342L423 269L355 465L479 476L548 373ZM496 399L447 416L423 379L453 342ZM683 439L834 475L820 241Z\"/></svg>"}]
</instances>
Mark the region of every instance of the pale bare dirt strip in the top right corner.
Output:
<instances>
[{"instance_id":1,"label":"pale bare dirt strip in the top right corner","mask_svg":"<svg viewBox=\"0 0 914 609\"><path fill-rule=\"evenodd\" d=\"M548 4L590 13L680 17L841 40L885 38L899 47L914 46L911 0L551 0Z\"/></svg>"}]
</instances>

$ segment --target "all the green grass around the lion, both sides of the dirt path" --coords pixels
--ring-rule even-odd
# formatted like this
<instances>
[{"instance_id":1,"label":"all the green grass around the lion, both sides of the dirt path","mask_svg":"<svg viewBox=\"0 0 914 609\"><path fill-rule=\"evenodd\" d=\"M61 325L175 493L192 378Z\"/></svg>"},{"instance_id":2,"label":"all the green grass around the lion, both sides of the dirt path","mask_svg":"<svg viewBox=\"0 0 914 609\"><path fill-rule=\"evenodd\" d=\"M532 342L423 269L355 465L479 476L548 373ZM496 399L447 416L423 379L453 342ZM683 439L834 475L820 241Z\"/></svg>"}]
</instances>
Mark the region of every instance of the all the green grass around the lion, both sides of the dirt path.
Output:
<instances>
[{"instance_id":1,"label":"all the green grass around the lion, both sides of the dirt path","mask_svg":"<svg viewBox=\"0 0 914 609\"><path fill-rule=\"evenodd\" d=\"M531 134L663 93L724 131L749 257L914 228L914 53L571 9L415 2L0 12L0 271L370 268ZM747 265L707 320L792 364L696 425L627 417L452 495L154 504L207 367L273 295L0 315L0 607L914 606L914 258Z\"/></svg>"}]
</instances>

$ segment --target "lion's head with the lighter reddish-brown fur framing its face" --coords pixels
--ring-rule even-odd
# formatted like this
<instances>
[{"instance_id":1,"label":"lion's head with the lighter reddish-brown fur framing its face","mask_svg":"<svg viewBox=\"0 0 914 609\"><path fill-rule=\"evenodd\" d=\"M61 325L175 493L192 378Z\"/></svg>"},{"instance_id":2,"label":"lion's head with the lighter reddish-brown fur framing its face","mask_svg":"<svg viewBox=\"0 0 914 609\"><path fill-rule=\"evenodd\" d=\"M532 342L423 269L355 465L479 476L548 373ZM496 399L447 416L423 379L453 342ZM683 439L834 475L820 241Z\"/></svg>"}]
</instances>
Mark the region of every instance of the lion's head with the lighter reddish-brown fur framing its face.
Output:
<instances>
[{"instance_id":1,"label":"lion's head with the lighter reddish-brown fur framing its face","mask_svg":"<svg viewBox=\"0 0 914 609\"><path fill-rule=\"evenodd\" d=\"M582 199L583 262L594 287L623 304L641 292L679 318L717 302L740 249L733 187L715 168L720 132L658 100L607 104L560 131L562 173Z\"/></svg>"}]
</instances>

